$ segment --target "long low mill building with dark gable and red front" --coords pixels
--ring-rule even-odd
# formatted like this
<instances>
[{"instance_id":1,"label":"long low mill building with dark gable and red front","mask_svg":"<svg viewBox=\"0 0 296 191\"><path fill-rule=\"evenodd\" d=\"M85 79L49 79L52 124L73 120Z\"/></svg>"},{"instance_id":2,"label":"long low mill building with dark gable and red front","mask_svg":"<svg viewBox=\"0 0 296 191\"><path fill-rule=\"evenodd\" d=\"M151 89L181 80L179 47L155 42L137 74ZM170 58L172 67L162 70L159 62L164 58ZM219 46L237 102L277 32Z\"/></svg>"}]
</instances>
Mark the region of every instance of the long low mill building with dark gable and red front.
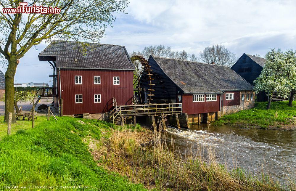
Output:
<instances>
[{"instance_id":1,"label":"long low mill building with dark gable and red front","mask_svg":"<svg viewBox=\"0 0 296 191\"><path fill-rule=\"evenodd\" d=\"M182 103L190 123L209 122L254 106L253 86L229 67L156 56L148 62L154 78L153 102ZM140 80L144 89L149 89L147 78L144 73Z\"/></svg>"}]
</instances>

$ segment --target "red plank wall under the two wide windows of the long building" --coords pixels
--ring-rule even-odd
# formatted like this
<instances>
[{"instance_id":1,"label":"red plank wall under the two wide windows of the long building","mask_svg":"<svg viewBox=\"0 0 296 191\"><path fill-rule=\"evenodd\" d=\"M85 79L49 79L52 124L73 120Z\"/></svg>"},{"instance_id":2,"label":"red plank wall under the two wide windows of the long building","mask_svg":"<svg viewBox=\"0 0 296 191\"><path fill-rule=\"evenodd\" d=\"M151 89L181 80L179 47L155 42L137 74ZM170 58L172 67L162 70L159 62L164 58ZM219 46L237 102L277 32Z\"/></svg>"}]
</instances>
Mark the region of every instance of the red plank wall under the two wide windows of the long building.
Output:
<instances>
[{"instance_id":1,"label":"red plank wall under the two wide windows of the long building","mask_svg":"<svg viewBox=\"0 0 296 191\"><path fill-rule=\"evenodd\" d=\"M220 94L217 94L217 101L207 102L206 95L204 102L193 102L193 94L182 95L182 108L183 113L198 114L198 113L210 113L220 111Z\"/></svg>"}]
</instances>

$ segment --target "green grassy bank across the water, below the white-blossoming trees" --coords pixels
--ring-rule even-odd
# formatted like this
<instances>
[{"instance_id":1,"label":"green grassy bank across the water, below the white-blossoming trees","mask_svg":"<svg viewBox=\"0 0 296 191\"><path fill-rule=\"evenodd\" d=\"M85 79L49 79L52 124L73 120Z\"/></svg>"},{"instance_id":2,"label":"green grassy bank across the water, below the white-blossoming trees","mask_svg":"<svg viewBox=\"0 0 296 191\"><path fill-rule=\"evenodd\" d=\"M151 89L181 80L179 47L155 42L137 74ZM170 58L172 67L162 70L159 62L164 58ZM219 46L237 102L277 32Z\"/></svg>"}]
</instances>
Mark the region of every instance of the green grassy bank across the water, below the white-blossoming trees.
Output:
<instances>
[{"instance_id":1,"label":"green grassy bank across the water, below the white-blossoming trees","mask_svg":"<svg viewBox=\"0 0 296 191\"><path fill-rule=\"evenodd\" d=\"M230 125L244 127L259 127L262 129L291 129L296 124L296 102L293 107L288 106L288 101L272 102L266 110L267 102L255 103L255 107L242 110L234 114L224 115L212 124L215 126Z\"/></svg>"}]
</instances>

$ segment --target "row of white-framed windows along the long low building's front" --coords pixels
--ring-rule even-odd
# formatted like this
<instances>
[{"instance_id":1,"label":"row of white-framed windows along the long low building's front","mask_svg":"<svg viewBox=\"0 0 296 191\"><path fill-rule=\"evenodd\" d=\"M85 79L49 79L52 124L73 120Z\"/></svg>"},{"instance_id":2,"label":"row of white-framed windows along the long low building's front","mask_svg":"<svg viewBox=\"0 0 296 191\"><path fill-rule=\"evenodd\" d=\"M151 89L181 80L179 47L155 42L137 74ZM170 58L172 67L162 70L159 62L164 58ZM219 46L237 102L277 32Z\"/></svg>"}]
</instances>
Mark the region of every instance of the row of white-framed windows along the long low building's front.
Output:
<instances>
[{"instance_id":1,"label":"row of white-framed windows along the long low building's front","mask_svg":"<svg viewBox=\"0 0 296 191\"><path fill-rule=\"evenodd\" d=\"M234 93L226 93L225 99L226 100L234 99ZM253 100L254 94L246 94L246 100L249 100L249 99ZM193 102L204 102L205 95L204 94L193 94L192 101ZM217 94L206 94L206 101L207 102L217 101ZM242 94L242 101L244 101L244 94Z\"/></svg>"}]
</instances>

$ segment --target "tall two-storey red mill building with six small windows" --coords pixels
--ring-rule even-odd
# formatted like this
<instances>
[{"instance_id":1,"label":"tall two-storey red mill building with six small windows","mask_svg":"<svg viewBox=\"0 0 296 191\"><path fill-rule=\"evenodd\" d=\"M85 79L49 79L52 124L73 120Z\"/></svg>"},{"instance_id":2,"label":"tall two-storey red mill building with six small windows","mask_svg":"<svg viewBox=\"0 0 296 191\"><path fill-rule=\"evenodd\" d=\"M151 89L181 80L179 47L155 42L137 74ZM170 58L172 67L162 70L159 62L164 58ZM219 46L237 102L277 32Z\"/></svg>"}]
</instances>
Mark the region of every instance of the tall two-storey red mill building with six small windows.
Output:
<instances>
[{"instance_id":1,"label":"tall two-storey red mill building with six small windows","mask_svg":"<svg viewBox=\"0 0 296 191\"><path fill-rule=\"evenodd\" d=\"M54 68L54 105L63 100L63 115L104 119L113 98L132 104L135 68L124 46L53 41L38 58Z\"/></svg>"}]
</instances>

